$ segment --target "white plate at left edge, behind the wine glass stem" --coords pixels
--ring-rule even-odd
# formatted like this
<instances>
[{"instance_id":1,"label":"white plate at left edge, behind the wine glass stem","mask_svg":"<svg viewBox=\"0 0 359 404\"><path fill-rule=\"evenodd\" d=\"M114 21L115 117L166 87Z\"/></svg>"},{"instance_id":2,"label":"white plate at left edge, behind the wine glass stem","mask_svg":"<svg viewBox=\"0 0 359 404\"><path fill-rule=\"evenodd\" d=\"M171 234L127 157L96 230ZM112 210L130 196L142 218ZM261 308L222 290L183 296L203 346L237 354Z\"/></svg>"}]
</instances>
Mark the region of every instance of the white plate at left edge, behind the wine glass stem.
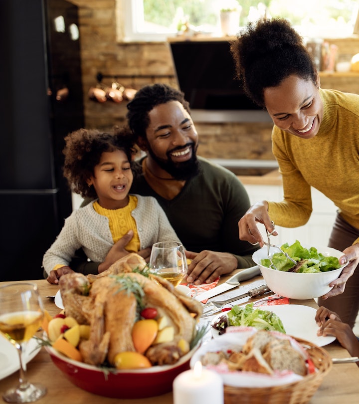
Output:
<instances>
[{"instance_id":1,"label":"white plate at left edge, behind the wine glass stem","mask_svg":"<svg viewBox=\"0 0 359 404\"><path fill-rule=\"evenodd\" d=\"M25 350L24 358L26 363L31 361L40 349L41 347L37 344L37 341L31 338ZM16 372L19 368L20 362L16 348L4 337L0 336L0 380Z\"/></svg>"}]
</instances>

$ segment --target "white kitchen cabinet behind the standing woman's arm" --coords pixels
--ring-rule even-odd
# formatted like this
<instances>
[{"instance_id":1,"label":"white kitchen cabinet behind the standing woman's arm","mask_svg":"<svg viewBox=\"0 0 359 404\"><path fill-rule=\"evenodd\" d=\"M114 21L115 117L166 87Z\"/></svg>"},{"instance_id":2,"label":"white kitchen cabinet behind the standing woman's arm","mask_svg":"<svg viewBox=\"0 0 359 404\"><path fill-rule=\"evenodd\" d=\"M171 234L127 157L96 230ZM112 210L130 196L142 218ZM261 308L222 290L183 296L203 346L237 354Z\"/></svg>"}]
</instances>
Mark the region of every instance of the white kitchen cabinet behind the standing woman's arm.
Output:
<instances>
[{"instance_id":1,"label":"white kitchen cabinet behind the standing woman's arm","mask_svg":"<svg viewBox=\"0 0 359 404\"><path fill-rule=\"evenodd\" d=\"M243 178L243 177L242 177ZM264 182L265 180L263 180ZM280 202L283 200L281 185L252 185L244 184L251 204L261 200ZM285 242L299 240L301 243L314 246L327 246L332 226L336 217L337 207L324 194L312 188L312 215L304 226L276 226L277 237L272 237L272 243L282 245ZM263 225L258 225L264 239L267 238Z\"/></svg>"}]
</instances>

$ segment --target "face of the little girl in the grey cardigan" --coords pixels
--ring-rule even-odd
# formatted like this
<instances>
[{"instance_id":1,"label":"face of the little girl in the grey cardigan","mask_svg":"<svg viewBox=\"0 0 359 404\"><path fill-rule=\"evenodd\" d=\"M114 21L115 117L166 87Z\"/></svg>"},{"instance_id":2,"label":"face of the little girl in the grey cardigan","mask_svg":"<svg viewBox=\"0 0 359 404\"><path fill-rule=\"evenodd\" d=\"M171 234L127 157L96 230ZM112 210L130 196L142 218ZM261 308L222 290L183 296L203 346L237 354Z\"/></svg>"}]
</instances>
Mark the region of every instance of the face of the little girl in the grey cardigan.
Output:
<instances>
[{"instance_id":1,"label":"face of the little girl in the grey cardigan","mask_svg":"<svg viewBox=\"0 0 359 404\"><path fill-rule=\"evenodd\" d=\"M93 185L99 204L106 209L119 209L128 202L133 181L130 162L122 150L104 152L87 184Z\"/></svg>"}]
</instances>

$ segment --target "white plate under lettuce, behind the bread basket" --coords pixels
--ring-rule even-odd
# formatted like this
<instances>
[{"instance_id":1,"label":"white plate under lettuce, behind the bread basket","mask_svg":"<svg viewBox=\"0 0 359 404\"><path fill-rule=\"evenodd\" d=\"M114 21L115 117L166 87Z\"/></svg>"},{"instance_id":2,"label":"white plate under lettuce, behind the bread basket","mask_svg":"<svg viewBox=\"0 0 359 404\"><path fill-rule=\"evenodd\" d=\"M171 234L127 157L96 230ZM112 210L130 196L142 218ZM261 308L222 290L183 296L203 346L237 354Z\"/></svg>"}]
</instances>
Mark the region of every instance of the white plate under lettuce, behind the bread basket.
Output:
<instances>
[{"instance_id":1,"label":"white plate under lettuce, behind the bread basket","mask_svg":"<svg viewBox=\"0 0 359 404\"><path fill-rule=\"evenodd\" d=\"M315 321L315 315L317 310L313 307L303 306L300 304L285 304L277 306L259 306L262 310L269 310L277 314L282 320L286 334L292 337L301 338L303 340L312 342L319 347L333 342L336 337L318 337L318 326ZM219 314L211 321L211 325L219 319L220 316L226 315L226 313ZM213 327L211 327L213 337L218 337L219 333Z\"/></svg>"}]
</instances>

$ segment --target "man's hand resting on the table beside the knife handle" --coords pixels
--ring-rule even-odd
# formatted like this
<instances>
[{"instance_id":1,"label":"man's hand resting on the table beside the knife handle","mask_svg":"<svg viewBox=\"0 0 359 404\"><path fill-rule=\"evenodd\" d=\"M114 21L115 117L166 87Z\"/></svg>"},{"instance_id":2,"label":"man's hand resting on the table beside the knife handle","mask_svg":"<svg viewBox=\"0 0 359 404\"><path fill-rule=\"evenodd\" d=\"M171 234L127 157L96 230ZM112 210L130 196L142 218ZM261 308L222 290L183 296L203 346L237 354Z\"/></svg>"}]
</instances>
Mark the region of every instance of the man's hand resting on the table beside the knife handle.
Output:
<instances>
[{"instance_id":1,"label":"man's hand resting on the table beside the knife handle","mask_svg":"<svg viewBox=\"0 0 359 404\"><path fill-rule=\"evenodd\" d=\"M238 265L236 257L229 252L203 250L185 251L185 254L192 260L188 265L186 281L195 285L211 283L218 276L232 272Z\"/></svg>"}]
</instances>

